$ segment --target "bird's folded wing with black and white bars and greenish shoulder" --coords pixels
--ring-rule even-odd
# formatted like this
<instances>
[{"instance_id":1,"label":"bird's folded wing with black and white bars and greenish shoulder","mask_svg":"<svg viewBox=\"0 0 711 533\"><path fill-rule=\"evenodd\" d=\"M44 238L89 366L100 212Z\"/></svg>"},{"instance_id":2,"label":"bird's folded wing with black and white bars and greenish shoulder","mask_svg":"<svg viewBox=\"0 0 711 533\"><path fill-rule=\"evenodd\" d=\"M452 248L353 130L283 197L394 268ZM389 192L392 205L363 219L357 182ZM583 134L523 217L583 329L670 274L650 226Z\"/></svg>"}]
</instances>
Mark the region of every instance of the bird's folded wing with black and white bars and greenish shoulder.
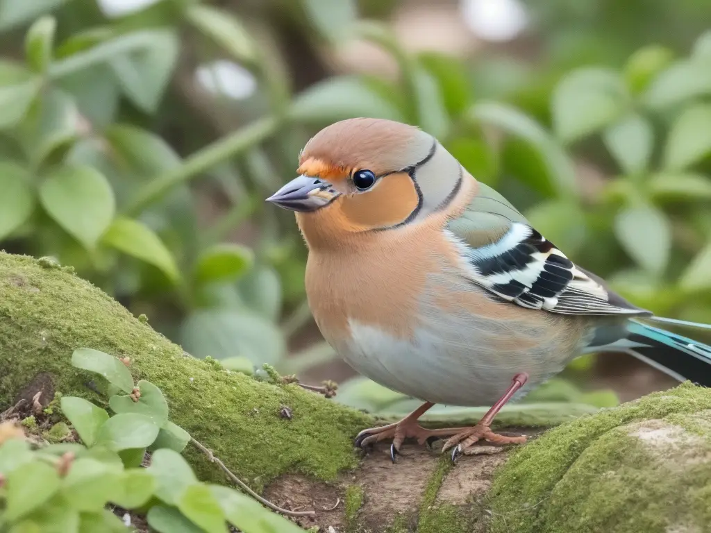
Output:
<instances>
[{"instance_id":1,"label":"bird's folded wing with black and white bars and greenish shoulder","mask_svg":"<svg viewBox=\"0 0 711 533\"><path fill-rule=\"evenodd\" d=\"M471 281L519 306L565 315L649 315L573 264L513 205L479 183L476 198L447 231L471 267Z\"/></svg>"}]
</instances>

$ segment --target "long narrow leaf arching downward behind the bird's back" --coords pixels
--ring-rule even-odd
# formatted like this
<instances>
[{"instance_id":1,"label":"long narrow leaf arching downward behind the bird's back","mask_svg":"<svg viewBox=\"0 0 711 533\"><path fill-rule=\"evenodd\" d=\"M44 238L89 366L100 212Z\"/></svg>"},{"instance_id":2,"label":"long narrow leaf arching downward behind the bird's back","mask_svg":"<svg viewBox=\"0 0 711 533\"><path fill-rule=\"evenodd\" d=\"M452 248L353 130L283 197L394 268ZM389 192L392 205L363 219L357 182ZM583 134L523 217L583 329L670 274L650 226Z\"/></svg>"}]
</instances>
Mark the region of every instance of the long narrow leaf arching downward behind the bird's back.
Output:
<instances>
[{"instance_id":1,"label":"long narrow leaf arching downward behind the bird's back","mask_svg":"<svg viewBox=\"0 0 711 533\"><path fill-rule=\"evenodd\" d=\"M576 190L572 161L555 139L533 119L518 109L497 102L479 102L471 108L469 116L479 124L494 126L533 146L545 163L550 187L559 195Z\"/></svg>"}]
</instances>

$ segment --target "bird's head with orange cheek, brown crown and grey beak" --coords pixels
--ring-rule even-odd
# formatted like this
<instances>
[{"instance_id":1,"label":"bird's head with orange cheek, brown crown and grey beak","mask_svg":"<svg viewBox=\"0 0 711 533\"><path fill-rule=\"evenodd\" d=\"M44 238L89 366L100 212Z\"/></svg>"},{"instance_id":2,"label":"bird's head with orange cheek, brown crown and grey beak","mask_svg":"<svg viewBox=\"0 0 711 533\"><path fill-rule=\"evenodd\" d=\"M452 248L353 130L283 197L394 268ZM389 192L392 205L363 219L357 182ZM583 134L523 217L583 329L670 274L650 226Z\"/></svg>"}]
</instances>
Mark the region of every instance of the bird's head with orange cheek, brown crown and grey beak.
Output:
<instances>
[{"instance_id":1,"label":"bird's head with orange cheek, brown crown and grey beak","mask_svg":"<svg viewBox=\"0 0 711 533\"><path fill-rule=\"evenodd\" d=\"M437 139L383 119L322 129L301 152L297 172L267 200L296 211L309 244L424 220L454 198L463 179Z\"/></svg>"}]
</instances>

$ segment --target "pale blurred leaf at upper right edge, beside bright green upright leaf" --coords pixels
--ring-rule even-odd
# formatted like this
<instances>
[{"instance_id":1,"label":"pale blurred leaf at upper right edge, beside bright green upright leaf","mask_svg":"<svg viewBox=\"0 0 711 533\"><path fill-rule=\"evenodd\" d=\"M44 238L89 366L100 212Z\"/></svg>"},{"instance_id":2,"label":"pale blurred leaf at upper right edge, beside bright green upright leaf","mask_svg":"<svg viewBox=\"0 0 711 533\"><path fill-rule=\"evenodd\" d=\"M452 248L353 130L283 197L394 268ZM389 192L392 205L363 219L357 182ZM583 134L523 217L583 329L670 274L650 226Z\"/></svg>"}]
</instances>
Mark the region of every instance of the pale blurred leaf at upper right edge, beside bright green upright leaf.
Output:
<instances>
[{"instance_id":1,"label":"pale blurred leaf at upper right edge, beside bright green upright leaf","mask_svg":"<svg viewBox=\"0 0 711 533\"><path fill-rule=\"evenodd\" d=\"M683 60L661 72L643 94L653 109L665 109L685 100L711 94L711 68L702 61Z\"/></svg>"}]
</instances>

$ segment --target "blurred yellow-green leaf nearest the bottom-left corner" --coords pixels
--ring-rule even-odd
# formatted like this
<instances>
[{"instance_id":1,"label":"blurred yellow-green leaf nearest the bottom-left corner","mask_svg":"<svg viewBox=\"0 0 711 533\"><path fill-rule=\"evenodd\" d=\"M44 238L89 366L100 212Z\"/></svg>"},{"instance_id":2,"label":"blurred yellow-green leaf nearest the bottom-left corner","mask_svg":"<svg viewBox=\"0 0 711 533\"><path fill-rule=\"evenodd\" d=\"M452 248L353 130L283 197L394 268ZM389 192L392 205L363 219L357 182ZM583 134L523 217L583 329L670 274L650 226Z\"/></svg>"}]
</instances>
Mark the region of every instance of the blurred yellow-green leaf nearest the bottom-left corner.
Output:
<instances>
[{"instance_id":1,"label":"blurred yellow-green leaf nearest the bottom-left corner","mask_svg":"<svg viewBox=\"0 0 711 533\"><path fill-rule=\"evenodd\" d=\"M57 470L47 463L33 461L15 468L6 478L4 519L13 522L41 507L59 486Z\"/></svg>"}]
</instances>

